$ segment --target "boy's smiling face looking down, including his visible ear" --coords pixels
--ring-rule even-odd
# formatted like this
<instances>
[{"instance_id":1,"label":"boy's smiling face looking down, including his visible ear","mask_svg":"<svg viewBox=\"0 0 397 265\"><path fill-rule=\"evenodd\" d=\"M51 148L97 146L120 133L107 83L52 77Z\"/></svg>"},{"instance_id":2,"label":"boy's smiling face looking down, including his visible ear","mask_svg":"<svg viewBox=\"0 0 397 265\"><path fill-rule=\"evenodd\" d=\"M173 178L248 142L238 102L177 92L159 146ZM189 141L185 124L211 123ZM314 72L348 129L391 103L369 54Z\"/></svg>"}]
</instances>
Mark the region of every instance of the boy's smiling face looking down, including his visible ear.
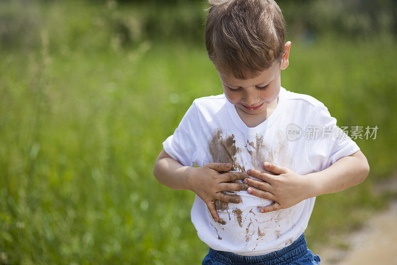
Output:
<instances>
[{"instance_id":1,"label":"boy's smiling face looking down, including his visible ear","mask_svg":"<svg viewBox=\"0 0 397 265\"><path fill-rule=\"evenodd\" d=\"M227 100L235 105L237 110L251 115L261 114L269 106L273 107L277 103L281 88L281 69L288 67L290 47L291 42L287 42L281 63L273 63L270 68L252 79L236 79L218 71Z\"/></svg>"}]
</instances>

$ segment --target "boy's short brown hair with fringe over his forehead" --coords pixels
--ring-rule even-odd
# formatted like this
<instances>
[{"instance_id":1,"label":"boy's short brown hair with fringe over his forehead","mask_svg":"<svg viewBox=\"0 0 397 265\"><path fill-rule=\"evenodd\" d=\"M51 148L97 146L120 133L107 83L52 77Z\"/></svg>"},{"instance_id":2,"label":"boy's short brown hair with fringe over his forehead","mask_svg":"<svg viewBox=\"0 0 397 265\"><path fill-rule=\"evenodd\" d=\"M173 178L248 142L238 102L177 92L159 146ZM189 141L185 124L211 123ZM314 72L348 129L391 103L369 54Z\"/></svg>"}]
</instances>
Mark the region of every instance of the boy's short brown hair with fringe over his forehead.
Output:
<instances>
[{"instance_id":1,"label":"boy's short brown hair with fringe over his forehead","mask_svg":"<svg viewBox=\"0 0 397 265\"><path fill-rule=\"evenodd\" d=\"M205 48L218 71L248 79L281 61L284 17L274 0L208 1Z\"/></svg>"}]
</instances>

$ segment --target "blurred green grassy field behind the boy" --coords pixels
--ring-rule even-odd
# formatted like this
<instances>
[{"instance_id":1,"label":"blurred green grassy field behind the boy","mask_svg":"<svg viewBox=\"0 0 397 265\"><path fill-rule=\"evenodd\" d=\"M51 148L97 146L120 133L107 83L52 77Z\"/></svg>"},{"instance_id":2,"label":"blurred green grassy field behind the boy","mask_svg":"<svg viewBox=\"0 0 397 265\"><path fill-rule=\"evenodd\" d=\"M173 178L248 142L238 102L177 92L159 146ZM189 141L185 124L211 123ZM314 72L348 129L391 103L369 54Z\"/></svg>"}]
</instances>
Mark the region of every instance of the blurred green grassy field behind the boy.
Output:
<instances>
[{"instance_id":1,"label":"blurred green grassy field behind the boy","mask_svg":"<svg viewBox=\"0 0 397 265\"><path fill-rule=\"evenodd\" d=\"M152 170L192 101L222 88L203 41L120 34L139 32L133 14L149 8L0 3L1 263L198 264L207 253L190 221L194 193ZM356 140L367 180L317 198L305 232L315 252L397 196L373 192L396 170L397 45L290 40L283 87L324 102L339 126L379 127L376 140Z\"/></svg>"}]
</instances>

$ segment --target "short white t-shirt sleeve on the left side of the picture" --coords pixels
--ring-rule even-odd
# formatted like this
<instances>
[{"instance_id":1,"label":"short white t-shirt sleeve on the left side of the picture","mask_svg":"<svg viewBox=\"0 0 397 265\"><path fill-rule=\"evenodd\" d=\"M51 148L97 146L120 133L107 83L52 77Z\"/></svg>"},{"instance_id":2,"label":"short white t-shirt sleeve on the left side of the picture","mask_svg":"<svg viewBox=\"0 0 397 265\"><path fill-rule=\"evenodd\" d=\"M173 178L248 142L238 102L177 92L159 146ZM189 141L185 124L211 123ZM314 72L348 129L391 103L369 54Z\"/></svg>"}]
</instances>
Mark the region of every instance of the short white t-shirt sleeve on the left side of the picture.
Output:
<instances>
[{"instance_id":1,"label":"short white t-shirt sleeve on the left side of the picture","mask_svg":"<svg viewBox=\"0 0 397 265\"><path fill-rule=\"evenodd\" d=\"M183 166L193 166L197 152L199 115L195 101L183 116L174 134L163 142L163 149ZM195 141L196 140L196 141Z\"/></svg>"}]
</instances>

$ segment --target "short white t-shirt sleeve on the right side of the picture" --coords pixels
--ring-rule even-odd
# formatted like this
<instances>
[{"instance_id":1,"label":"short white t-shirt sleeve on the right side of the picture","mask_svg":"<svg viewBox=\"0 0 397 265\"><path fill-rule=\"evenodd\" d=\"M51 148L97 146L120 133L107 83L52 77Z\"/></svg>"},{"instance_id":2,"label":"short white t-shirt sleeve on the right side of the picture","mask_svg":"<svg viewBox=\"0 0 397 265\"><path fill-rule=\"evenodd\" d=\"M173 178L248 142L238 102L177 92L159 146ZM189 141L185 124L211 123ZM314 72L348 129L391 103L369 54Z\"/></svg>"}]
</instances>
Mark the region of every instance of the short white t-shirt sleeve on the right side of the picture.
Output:
<instances>
[{"instance_id":1,"label":"short white t-shirt sleeve on the right side of the picture","mask_svg":"<svg viewBox=\"0 0 397 265\"><path fill-rule=\"evenodd\" d=\"M306 127L306 151L315 172L329 168L339 159L359 151L357 144L336 126L328 108L321 104L310 114Z\"/></svg>"}]
</instances>

